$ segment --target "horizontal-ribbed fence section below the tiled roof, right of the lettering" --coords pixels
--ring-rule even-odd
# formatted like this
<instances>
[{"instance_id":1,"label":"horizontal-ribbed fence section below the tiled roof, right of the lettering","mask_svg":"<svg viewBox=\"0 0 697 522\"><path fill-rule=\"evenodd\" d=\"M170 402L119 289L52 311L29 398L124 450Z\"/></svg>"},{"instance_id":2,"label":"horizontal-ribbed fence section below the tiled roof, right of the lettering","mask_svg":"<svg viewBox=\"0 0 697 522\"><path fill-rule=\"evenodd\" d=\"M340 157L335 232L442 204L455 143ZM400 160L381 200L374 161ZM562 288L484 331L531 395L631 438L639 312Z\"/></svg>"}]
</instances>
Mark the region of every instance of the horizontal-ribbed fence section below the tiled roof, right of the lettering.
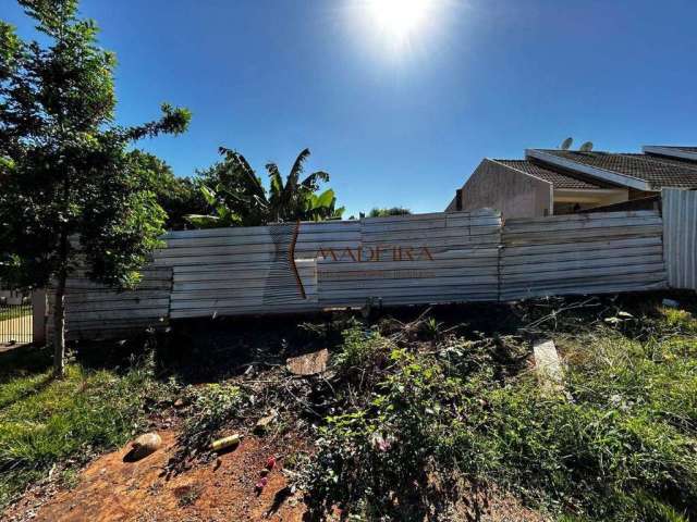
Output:
<instances>
[{"instance_id":1,"label":"horizontal-ribbed fence section below the tiled roof, right of the lettering","mask_svg":"<svg viewBox=\"0 0 697 522\"><path fill-rule=\"evenodd\" d=\"M656 211L506 220L502 301L667 286Z\"/></svg>"}]
</instances>

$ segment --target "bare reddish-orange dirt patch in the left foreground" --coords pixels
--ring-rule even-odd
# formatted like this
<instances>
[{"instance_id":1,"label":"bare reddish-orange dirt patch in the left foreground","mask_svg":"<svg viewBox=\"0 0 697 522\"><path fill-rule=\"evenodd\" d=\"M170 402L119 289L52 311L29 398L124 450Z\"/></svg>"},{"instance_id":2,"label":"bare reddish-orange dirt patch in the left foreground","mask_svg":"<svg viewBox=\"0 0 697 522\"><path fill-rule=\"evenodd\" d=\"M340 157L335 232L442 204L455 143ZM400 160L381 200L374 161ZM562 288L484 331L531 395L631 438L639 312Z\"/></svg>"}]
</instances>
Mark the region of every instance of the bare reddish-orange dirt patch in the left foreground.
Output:
<instances>
[{"instance_id":1,"label":"bare reddish-orange dirt patch in the left foreground","mask_svg":"<svg viewBox=\"0 0 697 522\"><path fill-rule=\"evenodd\" d=\"M168 480L162 470L174 455L175 435L160 433L162 448L133 463L123 462L129 447L105 455L87 467L78 485L50 499L35 492L10 508L11 521L284 521L299 522L305 506L298 494L273 507L276 494L286 486L283 450L297 447L292 440L248 437L219 461L197 464ZM276 453L279 463L268 485L255 493L260 470ZM276 510L273 510L276 509Z\"/></svg>"}]
</instances>

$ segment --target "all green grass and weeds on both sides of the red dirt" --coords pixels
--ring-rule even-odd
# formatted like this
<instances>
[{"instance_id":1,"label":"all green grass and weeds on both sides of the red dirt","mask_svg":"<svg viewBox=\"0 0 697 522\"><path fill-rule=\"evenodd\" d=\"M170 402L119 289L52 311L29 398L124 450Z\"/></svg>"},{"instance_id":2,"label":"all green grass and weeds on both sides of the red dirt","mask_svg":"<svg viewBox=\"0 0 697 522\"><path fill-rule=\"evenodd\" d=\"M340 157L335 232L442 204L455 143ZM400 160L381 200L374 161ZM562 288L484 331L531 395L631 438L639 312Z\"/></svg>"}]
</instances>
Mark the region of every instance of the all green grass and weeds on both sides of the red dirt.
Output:
<instances>
[{"instance_id":1,"label":"all green grass and weeds on both sides of the red dirt","mask_svg":"<svg viewBox=\"0 0 697 522\"><path fill-rule=\"evenodd\" d=\"M697 320L659 302L602 299L545 321L557 301L462 307L417 326L402 316L255 327L233 353L257 357L252 347L274 346L271 333L294 339L289 349L317 337L332 351L325 385L289 381L273 364L279 386L254 400L241 370L240 381L183 388L182 456L281 405L316 426L316 452L290 459L314 514L340 506L351 520L454 520L450 506L475 485L564 522L697 520ZM518 330L529 324L534 335ZM563 356L564 393L530 369L529 341L540 336ZM222 348L206 357L213 381L246 368L234 358L225 366ZM45 350L0 355L0 508L53 467L74 482L80 464L146 427L149 405L171 399L149 360L97 362L74 362L53 381ZM288 393L308 383L313 395L302 397L322 413L303 413Z\"/></svg>"}]
</instances>

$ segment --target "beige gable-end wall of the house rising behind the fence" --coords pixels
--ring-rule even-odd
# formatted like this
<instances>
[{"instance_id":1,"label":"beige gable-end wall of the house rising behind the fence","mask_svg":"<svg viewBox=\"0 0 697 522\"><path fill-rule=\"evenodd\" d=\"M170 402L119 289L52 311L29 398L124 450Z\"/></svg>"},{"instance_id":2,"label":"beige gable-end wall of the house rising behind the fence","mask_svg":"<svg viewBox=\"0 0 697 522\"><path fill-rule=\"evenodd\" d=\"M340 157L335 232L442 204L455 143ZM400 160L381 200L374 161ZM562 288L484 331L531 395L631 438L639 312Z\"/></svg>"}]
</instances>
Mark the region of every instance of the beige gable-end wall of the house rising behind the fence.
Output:
<instances>
[{"instance_id":1,"label":"beige gable-end wall of the house rising behind the fence","mask_svg":"<svg viewBox=\"0 0 697 522\"><path fill-rule=\"evenodd\" d=\"M462 187L462 209L496 209L504 217L538 217L552 213L549 182L485 159ZM457 210L453 199L445 212Z\"/></svg>"}]
</instances>

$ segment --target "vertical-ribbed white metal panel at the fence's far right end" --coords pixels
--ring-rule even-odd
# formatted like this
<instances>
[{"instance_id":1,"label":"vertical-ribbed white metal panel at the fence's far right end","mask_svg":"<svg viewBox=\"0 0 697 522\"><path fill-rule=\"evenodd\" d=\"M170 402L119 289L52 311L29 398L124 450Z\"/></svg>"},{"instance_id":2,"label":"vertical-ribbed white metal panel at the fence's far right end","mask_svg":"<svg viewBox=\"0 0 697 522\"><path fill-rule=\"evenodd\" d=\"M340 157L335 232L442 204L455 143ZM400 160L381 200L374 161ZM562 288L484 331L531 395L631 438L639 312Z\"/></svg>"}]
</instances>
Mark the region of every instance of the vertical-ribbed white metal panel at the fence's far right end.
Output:
<instances>
[{"instance_id":1,"label":"vertical-ribbed white metal panel at the fence's far right end","mask_svg":"<svg viewBox=\"0 0 697 522\"><path fill-rule=\"evenodd\" d=\"M697 289L697 191L667 188L662 200L668 283Z\"/></svg>"}]
</instances>

